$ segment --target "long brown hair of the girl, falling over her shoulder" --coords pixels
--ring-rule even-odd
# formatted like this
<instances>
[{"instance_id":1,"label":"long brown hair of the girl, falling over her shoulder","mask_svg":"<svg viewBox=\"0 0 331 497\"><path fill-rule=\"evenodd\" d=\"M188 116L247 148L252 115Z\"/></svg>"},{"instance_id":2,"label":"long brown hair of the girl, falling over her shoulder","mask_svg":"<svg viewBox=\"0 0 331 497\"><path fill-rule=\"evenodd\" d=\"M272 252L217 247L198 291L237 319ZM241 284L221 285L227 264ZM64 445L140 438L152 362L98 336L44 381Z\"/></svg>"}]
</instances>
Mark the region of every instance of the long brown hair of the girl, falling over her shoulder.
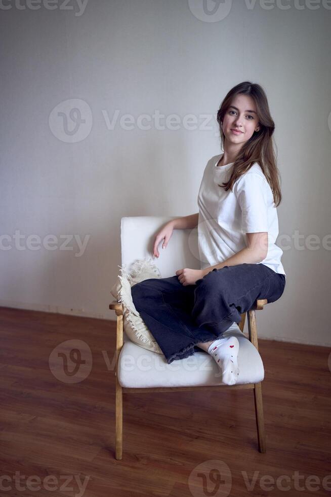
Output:
<instances>
[{"instance_id":1,"label":"long brown hair of the girl, falling over her shoulder","mask_svg":"<svg viewBox=\"0 0 331 497\"><path fill-rule=\"evenodd\" d=\"M251 138L243 144L234 161L229 181L219 186L225 188L226 191L229 190L229 188L232 190L238 177L251 169L254 162L257 162L270 185L274 204L275 207L277 207L281 202L281 191L280 173L276 164L272 138L275 123L270 115L267 96L262 86L257 83L251 83L250 81L244 81L243 83L234 86L222 101L217 113L217 122L220 127L221 135L221 148L223 150L225 139L222 130L223 118L231 105L232 99L239 93L249 95L254 99L260 130L254 131Z\"/></svg>"}]
</instances>

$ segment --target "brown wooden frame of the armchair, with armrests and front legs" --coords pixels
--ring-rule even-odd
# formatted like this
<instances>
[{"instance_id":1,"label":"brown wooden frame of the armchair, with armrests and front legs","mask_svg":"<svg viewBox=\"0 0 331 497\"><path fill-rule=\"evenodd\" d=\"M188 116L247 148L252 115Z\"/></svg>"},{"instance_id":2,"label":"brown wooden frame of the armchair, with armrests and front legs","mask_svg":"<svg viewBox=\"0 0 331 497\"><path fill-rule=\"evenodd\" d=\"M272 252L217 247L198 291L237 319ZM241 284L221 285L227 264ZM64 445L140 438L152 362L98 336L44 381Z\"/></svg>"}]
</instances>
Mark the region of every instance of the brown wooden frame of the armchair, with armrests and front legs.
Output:
<instances>
[{"instance_id":1,"label":"brown wooden frame of the armchair, with armrests and front legs","mask_svg":"<svg viewBox=\"0 0 331 497\"><path fill-rule=\"evenodd\" d=\"M263 306L268 303L267 299L259 299L256 301L255 305L247 311L247 322L249 330L249 340L253 345L258 348L258 334L256 326L256 310L262 310ZM116 405L115 405L115 458L117 460L122 458L122 440L123 440L123 394L129 393L145 393L145 392L183 392L184 390L215 390L215 389L251 389L254 391L254 403L255 403L255 418L256 426L258 432L258 445L260 452L266 452L266 437L264 431L264 417L263 417L263 404L262 404L262 388L261 381L259 383L246 383L246 384L234 384L234 385L211 385L211 386L180 386L180 387L155 387L155 388L126 388L122 387L118 382L118 357L119 352L123 346L123 305L117 300L114 300L109 304L109 309L113 309L117 316L116 325L116 365L115 365L115 377L116 377ZM245 312L241 314L241 321L239 323L240 331L243 333L243 327L245 324Z\"/></svg>"}]
</instances>

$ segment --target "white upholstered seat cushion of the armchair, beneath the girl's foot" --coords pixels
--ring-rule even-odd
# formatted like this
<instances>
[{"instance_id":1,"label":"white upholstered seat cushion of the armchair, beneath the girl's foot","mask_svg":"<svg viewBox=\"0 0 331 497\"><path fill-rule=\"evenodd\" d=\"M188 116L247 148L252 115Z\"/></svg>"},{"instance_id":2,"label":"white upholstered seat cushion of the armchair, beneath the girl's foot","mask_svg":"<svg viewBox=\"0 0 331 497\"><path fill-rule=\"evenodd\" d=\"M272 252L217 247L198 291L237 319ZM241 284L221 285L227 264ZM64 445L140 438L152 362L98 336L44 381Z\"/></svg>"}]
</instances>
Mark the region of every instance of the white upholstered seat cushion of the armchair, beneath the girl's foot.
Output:
<instances>
[{"instance_id":1,"label":"white upholstered seat cushion of the armchair, beneath the girl's foot","mask_svg":"<svg viewBox=\"0 0 331 497\"><path fill-rule=\"evenodd\" d=\"M261 356L255 346L233 323L224 337L239 340L237 384L259 383L264 379ZM204 350L168 364L163 354L146 350L129 340L123 342L118 358L118 381L127 388L223 385L221 370Z\"/></svg>"}]
</instances>

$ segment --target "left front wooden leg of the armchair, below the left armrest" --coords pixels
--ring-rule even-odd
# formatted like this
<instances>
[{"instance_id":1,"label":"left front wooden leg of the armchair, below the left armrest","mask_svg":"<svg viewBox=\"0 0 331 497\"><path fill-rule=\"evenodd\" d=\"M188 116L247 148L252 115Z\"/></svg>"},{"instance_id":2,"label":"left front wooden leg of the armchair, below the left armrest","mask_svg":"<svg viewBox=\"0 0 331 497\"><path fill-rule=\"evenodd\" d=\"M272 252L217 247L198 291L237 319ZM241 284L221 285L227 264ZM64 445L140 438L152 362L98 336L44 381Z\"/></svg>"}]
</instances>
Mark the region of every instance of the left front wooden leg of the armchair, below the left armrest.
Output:
<instances>
[{"instance_id":1,"label":"left front wooden leg of the armchair, below the left armrest","mask_svg":"<svg viewBox=\"0 0 331 497\"><path fill-rule=\"evenodd\" d=\"M123 345L123 314L121 310L116 310L117 329L116 329L116 400L115 400L115 459L122 458L123 443L123 396L122 387L118 381L118 356Z\"/></svg>"}]
</instances>

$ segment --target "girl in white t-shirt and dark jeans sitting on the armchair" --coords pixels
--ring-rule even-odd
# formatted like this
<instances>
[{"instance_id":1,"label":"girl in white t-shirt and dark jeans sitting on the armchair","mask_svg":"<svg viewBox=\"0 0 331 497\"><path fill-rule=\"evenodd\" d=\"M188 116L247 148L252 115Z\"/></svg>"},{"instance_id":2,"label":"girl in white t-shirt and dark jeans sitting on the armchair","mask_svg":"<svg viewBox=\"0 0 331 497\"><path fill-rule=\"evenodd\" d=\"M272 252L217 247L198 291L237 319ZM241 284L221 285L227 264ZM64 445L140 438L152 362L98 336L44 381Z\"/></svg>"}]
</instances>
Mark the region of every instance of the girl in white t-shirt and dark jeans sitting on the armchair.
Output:
<instances>
[{"instance_id":1,"label":"girl in white t-shirt and dark jeans sitting on the armchair","mask_svg":"<svg viewBox=\"0 0 331 497\"><path fill-rule=\"evenodd\" d=\"M215 359L222 381L234 384L239 342L222 338L257 299L274 302L284 291L277 209L281 201L274 156L274 122L263 88L243 82L220 105L217 122L224 153L203 172L199 212L167 223L156 234L166 248L174 229L197 227L200 269L181 268L131 288L133 302L167 363L199 347Z\"/></svg>"}]
</instances>

